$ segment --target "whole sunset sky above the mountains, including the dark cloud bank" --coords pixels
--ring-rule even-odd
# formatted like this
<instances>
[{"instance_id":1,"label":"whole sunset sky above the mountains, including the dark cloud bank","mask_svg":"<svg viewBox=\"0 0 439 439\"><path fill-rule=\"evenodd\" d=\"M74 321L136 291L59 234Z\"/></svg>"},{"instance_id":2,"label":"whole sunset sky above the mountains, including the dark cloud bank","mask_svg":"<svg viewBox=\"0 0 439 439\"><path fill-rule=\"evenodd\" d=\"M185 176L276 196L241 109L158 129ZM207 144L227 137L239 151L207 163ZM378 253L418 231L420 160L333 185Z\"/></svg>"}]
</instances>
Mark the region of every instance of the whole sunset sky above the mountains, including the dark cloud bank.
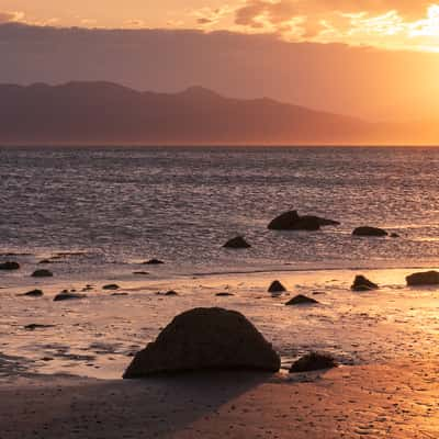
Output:
<instances>
[{"instance_id":1,"label":"whole sunset sky above the mountains, including the dark cloud bank","mask_svg":"<svg viewBox=\"0 0 439 439\"><path fill-rule=\"evenodd\" d=\"M439 2L0 0L0 82L200 85L380 120L439 114Z\"/></svg>"}]
</instances>

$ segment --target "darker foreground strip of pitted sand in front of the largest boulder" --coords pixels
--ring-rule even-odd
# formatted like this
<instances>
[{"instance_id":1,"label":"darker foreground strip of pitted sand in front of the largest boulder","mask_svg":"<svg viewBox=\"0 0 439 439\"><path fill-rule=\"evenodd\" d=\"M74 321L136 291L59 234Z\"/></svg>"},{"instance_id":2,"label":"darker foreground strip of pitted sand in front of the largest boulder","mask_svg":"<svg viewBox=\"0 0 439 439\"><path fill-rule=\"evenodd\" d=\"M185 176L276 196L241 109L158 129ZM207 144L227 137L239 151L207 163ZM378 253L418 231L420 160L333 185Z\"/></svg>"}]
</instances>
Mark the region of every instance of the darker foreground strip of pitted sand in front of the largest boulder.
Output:
<instances>
[{"instance_id":1,"label":"darker foreground strip of pitted sand in front of the largest boulder","mask_svg":"<svg viewBox=\"0 0 439 439\"><path fill-rule=\"evenodd\" d=\"M0 385L0 437L439 437L438 364L322 373L215 373L143 381L61 376Z\"/></svg>"}]
</instances>

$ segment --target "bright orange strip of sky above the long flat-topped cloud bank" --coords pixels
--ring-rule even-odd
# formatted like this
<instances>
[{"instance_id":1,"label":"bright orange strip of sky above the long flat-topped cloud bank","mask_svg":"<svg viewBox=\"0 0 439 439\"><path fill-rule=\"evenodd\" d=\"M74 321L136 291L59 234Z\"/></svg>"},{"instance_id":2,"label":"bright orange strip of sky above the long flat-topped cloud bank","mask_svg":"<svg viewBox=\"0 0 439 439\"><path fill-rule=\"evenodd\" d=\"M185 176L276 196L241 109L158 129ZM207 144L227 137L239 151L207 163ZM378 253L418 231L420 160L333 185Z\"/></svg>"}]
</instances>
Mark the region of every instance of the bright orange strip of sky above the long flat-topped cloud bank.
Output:
<instances>
[{"instance_id":1,"label":"bright orange strip of sky above the long flat-topped cloud bank","mask_svg":"<svg viewBox=\"0 0 439 439\"><path fill-rule=\"evenodd\" d=\"M429 0L0 0L0 23L275 33L439 52L439 2Z\"/></svg>"}]
</instances>

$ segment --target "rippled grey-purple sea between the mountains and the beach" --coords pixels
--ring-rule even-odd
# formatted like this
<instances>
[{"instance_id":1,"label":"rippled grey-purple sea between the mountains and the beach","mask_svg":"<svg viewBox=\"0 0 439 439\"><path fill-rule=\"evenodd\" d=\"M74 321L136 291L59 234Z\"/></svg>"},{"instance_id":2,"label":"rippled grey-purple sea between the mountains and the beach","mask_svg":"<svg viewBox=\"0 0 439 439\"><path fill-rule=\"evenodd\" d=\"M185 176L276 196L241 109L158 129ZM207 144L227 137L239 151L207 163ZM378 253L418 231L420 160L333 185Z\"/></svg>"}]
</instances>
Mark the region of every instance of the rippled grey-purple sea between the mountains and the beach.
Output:
<instances>
[{"instance_id":1,"label":"rippled grey-purple sea between the mountains and the beach","mask_svg":"<svg viewBox=\"0 0 439 439\"><path fill-rule=\"evenodd\" d=\"M151 257L184 273L434 266L438 176L435 148L3 147L0 258L57 256L70 274ZM341 226L267 229L291 209ZM352 237L361 225L401 238ZM223 249L237 234L252 248Z\"/></svg>"}]
</instances>

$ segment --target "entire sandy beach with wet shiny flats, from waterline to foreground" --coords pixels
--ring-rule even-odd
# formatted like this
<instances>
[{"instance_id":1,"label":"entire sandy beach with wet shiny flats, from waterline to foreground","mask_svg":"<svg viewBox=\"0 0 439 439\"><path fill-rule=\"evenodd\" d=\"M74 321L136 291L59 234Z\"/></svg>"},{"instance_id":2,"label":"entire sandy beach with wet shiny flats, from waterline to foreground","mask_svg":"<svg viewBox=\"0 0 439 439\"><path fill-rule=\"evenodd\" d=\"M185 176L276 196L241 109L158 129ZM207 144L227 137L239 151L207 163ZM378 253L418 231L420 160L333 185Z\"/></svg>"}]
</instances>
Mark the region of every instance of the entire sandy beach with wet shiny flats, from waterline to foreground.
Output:
<instances>
[{"instance_id":1,"label":"entire sandy beach with wet shiny flats, from waterline to foreground","mask_svg":"<svg viewBox=\"0 0 439 439\"><path fill-rule=\"evenodd\" d=\"M153 279L126 273L5 288L0 304L0 437L439 437L439 293L405 286L412 269L365 270L381 289L353 293L357 272ZM273 279L289 292L269 294ZM86 283L93 285L87 299L53 301L59 291L81 291ZM109 283L124 295L104 290ZM45 295L16 295L35 288ZM157 294L169 290L178 295ZM233 295L216 296L221 292ZM285 306L295 293L319 304ZM281 372L121 380L137 350L173 316L199 306L245 314L281 353ZM26 330L30 324L48 326ZM328 351L341 365L289 374L291 362L311 350Z\"/></svg>"}]
</instances>

